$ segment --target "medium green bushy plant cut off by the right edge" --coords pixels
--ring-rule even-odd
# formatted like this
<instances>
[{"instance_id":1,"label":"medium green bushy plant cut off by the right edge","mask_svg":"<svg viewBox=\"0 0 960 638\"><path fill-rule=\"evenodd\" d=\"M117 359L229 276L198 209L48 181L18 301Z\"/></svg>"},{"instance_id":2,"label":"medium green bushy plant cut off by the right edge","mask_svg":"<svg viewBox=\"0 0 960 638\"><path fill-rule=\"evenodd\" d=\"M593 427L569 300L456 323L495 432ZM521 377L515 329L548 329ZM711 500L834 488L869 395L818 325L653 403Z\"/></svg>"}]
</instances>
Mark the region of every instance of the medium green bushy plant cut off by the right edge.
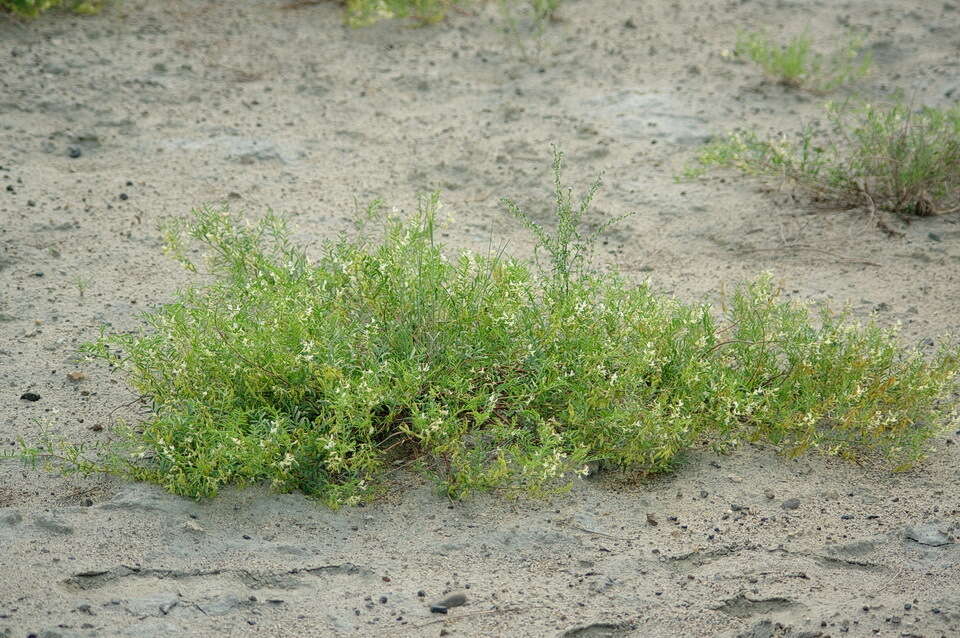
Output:
<instances>
[{"instance_id":1,"label":"medium green bushy plant cut off by the right edge","mask_svg":"<svg viewBox=\"0 0 960 638\"><path fill-rule=\"evenodd\" d=\"M707 145L686 173L714 167L784 178L842 207L936 215L960 210L960 106L829 105L827 126L765 138L741 131Z\"/></svg>"}]
</instances>

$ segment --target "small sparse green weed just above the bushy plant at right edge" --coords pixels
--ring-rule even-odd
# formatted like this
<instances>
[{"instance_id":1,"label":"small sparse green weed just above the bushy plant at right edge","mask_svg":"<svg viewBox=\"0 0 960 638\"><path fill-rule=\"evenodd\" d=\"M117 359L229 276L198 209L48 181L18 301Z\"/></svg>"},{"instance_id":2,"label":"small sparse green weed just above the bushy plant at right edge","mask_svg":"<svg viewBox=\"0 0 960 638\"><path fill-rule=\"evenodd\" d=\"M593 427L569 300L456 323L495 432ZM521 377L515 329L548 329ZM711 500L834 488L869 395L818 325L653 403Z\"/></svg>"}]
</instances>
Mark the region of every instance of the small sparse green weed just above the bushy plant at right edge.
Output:
<instances>
[{"instance_id":1,"label":"small sparse green weed just above the bushy plant at right edge","mask_svg":"<svg viewBox=\"0 0 960 638\"><path fill-rule=\"evenodd\" d=\"M829 93L858 80L870 71L873 58L863 51L863 41L852 37L839 51L823 55L813 51L807 34L778 45L765 35L741 31L736 52L763 67L780 83L814 93Z\"/></svg>"}]
</instances>

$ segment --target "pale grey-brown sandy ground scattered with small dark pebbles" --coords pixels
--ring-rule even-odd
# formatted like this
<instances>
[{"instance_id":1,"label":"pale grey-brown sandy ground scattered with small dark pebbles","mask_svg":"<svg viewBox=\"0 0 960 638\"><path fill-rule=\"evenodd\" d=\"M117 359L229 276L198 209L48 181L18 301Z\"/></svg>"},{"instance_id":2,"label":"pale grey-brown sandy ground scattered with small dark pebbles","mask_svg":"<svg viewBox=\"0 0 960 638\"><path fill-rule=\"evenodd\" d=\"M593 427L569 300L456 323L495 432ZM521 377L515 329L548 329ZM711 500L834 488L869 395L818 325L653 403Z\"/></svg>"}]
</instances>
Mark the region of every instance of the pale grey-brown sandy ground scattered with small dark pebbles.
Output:
<instances>
[{"instance_id":1,"label":"pale grey-brown sandy ground scattered with small dark pebbles","mask_svg":"<svg viewBox=\"0 0 960 638\"><path fill-rule=\"evenodd\" d=\"M529 254L497 202L546 214L554 142L569 182L605 172L596 219L637 212L601 255L630 277L715 300L768 270L798 298L901 322L907 343L960 333L956 217L891 239L759 183L673 180L713 133L820 112L722 55L738 27L809 27L827 46L860 29L877 61L863 91L944 105L960 96L952 0L574 0L539 43L505 35L492 4L362 30L335 3L282 4L0 18L5 449L42 432L106 441L142 416L76 346L188 282L160 253L160 219L270 207L315 243L357 202L410 207L438 188L451 246ZM405 477L340 512L260 489L196 503L6 460L0 636L957 636L948 434L899 475L747 448L645 484L601 474L546 503L450 503ZM464 606L430 613L456 592Z\"/></svg>"}]
</instances>

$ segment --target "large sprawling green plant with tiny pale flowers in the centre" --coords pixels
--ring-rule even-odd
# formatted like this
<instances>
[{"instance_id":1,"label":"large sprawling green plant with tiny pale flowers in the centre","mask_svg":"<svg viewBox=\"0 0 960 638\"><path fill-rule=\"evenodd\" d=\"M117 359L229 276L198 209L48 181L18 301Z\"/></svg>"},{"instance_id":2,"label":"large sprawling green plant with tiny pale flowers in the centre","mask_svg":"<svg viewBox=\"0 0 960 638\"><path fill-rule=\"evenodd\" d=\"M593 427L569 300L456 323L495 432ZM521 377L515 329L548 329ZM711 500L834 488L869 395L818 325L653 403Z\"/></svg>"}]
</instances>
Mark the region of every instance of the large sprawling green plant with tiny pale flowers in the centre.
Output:
<instances>
[{"instance_id":1,"label":"large sprawling green plant with tiny pale flowers in the centre","mask_svg":"<svg viewBox=\"0 0 960 638\"><path fill-rule=\"evenodd\" d=\"M439 200L341 237L311 261L273 215L250 225L201 209L167 248L203 282L147 328L85 349L124 370L152 416L105 461L192 497L269 481L331 505L372 497L397 463L452 496L556 489L590 462L669 469L699 441L767 440L794 454L879 454L898 466L942 427L960 358L902 350L893 333L783 301L768 276L719 316L591 270L598 231L555 161L554 227L507 205L546 259L449 255ZM206 265L185 255L188 240ZM120 451L117 451L120 449ZM51 458L52 458L51 457Z\"/></svg>"}]
</instances>

